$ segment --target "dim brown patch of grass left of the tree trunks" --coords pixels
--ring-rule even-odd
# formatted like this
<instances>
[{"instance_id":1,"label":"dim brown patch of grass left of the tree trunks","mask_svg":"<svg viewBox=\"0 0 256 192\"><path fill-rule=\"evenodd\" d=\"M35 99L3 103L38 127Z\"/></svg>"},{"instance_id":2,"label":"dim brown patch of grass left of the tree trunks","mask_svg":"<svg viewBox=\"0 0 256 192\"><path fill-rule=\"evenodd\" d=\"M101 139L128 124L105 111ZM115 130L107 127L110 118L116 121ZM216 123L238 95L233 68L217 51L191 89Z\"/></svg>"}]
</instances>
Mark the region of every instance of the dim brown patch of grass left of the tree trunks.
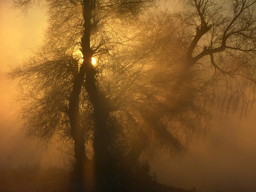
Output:
<instances>
[{"instance_id":1,"label":"dim brown patch of grass left of the tree trunks","mask_svg":"<svg viewBox=\"0 0 256 192\"><path fill-rule=\"evenodd\" d=\"M65 192L70 171L60 167L2 165L0 168L1 192Z\"/></svg>"}]
</instances>

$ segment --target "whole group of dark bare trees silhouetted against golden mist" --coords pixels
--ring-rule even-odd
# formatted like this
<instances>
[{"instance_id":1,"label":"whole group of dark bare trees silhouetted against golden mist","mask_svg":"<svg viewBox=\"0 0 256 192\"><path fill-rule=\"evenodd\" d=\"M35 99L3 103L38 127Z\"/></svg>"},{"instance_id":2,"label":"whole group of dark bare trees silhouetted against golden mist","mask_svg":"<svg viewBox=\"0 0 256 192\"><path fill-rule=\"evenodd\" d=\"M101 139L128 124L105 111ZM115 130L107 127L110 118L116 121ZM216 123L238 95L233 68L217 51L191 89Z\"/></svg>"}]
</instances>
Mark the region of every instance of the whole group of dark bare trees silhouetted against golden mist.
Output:
<instances>
[{"instance_id":1,"label":"whole group of dark bare trees silhouetted against golden mist","mask_svg":"<svg viewBox=\"0 0 256 192\"><path fill-rule=\"evenodd\" d=\"M41 3L45 41L10 75L27 136L72 142L80 179L89 159L109 173L132 169L143 151L183 154L207 133L212 105L246 115L254 103L255 1L188 0L174 14L153 0L14 7Z\"/></svg>"}]
</instances>

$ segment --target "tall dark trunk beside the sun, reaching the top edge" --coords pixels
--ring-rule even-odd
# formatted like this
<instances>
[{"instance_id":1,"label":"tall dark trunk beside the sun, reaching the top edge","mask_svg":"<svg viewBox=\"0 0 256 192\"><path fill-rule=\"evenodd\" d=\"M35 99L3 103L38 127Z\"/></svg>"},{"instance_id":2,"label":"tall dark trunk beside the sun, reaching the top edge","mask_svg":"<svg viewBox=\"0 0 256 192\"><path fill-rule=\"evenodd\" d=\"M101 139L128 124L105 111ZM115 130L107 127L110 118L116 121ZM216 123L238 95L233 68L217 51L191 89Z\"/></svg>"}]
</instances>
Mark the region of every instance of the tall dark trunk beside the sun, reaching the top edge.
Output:
<instances>
[{"instance_id":1,"label":"tall dark trunk beside the sun, reaching the top edge","mask_svg":"<svg viewBox=\"0 0 256 192\"><path fill-rule=\"evenodd\" d=\"M109 153L109 134L110 129L107 125L109 112L106 109L107 102L104 95L97 87L95 78L95 69L92 65L93 52L90 49L90 29L92 19L92 9L94 3L89 0L83 0L83 18L84 31L81 38L81 51L83 54L83 64L80 72L85 72L85 88L89 95L89 100L93 105L94 117L94 133L93 133L93 149L96 171L105 171L109 169L110 153Z\"/></svg>"}]
</instances>

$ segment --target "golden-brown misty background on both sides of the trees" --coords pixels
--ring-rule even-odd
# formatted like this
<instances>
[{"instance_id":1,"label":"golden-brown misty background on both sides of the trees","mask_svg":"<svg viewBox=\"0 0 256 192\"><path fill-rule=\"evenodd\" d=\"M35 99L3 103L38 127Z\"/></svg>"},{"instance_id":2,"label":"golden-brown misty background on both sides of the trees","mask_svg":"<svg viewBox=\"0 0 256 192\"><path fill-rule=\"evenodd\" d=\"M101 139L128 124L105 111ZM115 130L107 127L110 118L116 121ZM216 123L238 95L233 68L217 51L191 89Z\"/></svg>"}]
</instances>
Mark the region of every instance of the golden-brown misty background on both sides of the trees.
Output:
<instances>
[{"instance_id":1,"label":"golden-brown misty background on both sides of the trees","mask_svg":"<svg viewBox=\"0 0 256 192\"><path fill-rule=\"evenodd\" d=\"M15 84L6 78L10 67L39 45L46 28L42 9L19 16L12 0L0 0L0 164L59 166L60 152L52 145L46 151L25 140L15 121ZM172 6L171 3L168 5ZM205 139L195 140L181 159L161 155L150 159L151 172L159 183L198 191L256 191L256 107L247 118L238 115L220 119L213 112L212 127Z\"/></svg>"}]
</instances>

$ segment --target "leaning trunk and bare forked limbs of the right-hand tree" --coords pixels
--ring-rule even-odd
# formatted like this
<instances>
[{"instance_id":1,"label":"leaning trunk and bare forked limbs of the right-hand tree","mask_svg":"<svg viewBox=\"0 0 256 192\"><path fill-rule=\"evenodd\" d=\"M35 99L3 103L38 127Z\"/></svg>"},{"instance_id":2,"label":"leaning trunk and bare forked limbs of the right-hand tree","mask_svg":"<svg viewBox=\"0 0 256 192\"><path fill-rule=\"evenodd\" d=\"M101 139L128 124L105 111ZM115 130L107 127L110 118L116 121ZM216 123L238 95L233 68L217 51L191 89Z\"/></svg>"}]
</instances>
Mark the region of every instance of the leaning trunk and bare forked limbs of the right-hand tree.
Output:
<instances>
[{"instance_id":1,"label":"leaning trunk and bare forked limbs of the right-hand tree","mask_svg":"<svg viewBox=\"0 0 256 192\"><path fill-rule=\"evenodd\" d=\"M239 2L236 2L239 3ZM199 42L203 41L203 36L205 34L207 34L209 31L211 31L212 26L215 23L209 24L208 22L206 23L206 19L205 19L205 13L209 12L209 8L211 6L215 6L212 1L197 1L197 0L193 0L192 5L195 6L196 8L196 15L199 16L200 18L200 26L196 27L196 34L193 36L193 39L191 40L191 43L188 46L187 52L186 52L186 58L183 61L183 70L181 72L180 78L176 81L175 85L172 87L172 89L170 89L170 96L166 96L166 100L164 101L164 103L162 104L162 106L167 106L166 109L169 109L169 113L171 114L171 109L175 108L175 103L177 101L177 97L178 97L178 93L180 91L180 89L182 88L186 76L188 76L190 69L193 67L193 65L196 64L196 62L198 62L200 59L205 58L206 56L211 56L211 61L212 61L212 65L218 69L221 73L226 74L226 75L234 75L235 72L234 70L231 71L224 71L223 69L221 69L220 67L218 67L214 60L213 60L213 54L214 53L221 53L221 52L225 52L226 49L230 49L230 50L237 50L237 51L241 51L244 53L255 53L255 48L254 47L250 47L249 49L240 49L237 47L232 47L230 46L230 42L228 42L228 38L231 38L232 35L237 35L238 33L234 33L234 32L229 32L230 29L233 27L233 25L236 23L236 21L239 19L239 17L242 15L242 13L247 10L248 8L250 8L250 6L253 6L253 4L255 3L255 1L248 3L247 1L243 1L242 2L242 6L240 8L238 8L236 10L236 14L234 14L234 18L231 19L231 21L227 24L226 28L224 29L224 32L222 33L222 35L220 36L219 34L214 34L214 32L212 32L212 35L217 35L217 37L215 37L216 42L213 42L213 36L211 37L211 44L209 47L204 47L204 49L202 51L200 51L199 53L197 53L195 56L195 52L196 50L198 50L199 47ZM217 12L219 12L220 8L217 8L217 11L214 10L213 14L215 15ZM235 10L234 10L235 12ZM210 19L212 19L214 21L213 15L209 16ZM210 19L207 19L207 21L210 21ZM218 24L220 25L220 24ZM216 25L216 26L218 26ZM246 24L246 27L242 26L242 28L240 30L237 31L248 31L248 27L251 26L250 30L254 30L254 20L251 21L250 24ZM213 28L213 30L215 30L215 26ZM254 42L254 36L246 36L243 35L244 38L247 39L251 39ZM221 41L219 41L219 39L221 39ZM227 42L229 43L229 45L227 46ZM213 47L213 45L218 44L217 47ZM254 46L254 45L252 45ZM199 49L200 50L200 49ZM236 74L238 75L238 74ZM252 82L255 82L255 80L251 77L246 77L243 74L239 74L241 77L244 77ZM161 111L159 113L159 111ZM164 112L165 111L165 112ZM161 110L158 110L157 107L155 107L152 111L151 111L151 115L154 118L155 121L160 120L166 113L168 113L168 110L164 110L163 108L161 108ZM150 119L150 118L148 118ZM128 158L131 159L131 161L133 163L135 163L136 161L138 161L138 158L140 156L140 153L144 150L143 147L147 146L147 142L151 136L151 132L153 130L152 125L150 124L150 121L145 122L142 124L143 127L141 127L138 131L137 134L137 139L134 140L134 143L132 144L132 148L130 150L130 152L128 153L128 155L126 156L126 161L129 162L129 160L127 160ZM139 146L140 145L140 146Z\"/></svg>"}]
</instances>

